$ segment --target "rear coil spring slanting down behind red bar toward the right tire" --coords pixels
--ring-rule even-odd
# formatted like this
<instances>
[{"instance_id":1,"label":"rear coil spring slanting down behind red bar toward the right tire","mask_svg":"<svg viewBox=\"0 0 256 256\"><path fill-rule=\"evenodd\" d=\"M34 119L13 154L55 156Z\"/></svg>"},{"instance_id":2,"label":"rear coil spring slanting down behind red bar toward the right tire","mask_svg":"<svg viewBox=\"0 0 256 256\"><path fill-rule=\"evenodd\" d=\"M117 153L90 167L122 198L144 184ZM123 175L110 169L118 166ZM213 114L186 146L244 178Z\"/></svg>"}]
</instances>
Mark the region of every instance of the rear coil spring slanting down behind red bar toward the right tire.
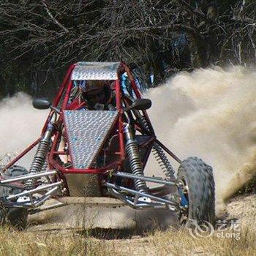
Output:
<instances>
[{"instance_id":1,"label":"rear coil spring slanting down behind red bar toward the right tire","mask_svg":"<svg viewBox=\"0 0 256 256\"><path fill-rule=\"evenodd\" d=\"M148 123L143 116L140 116L140 123L143 125L145 129L149 131ZM175 178L174 170L172 165L170 164L170 161L167 159L163 149L157 143L154 143L153 145L153 154L155 159L157 160L157 163L161 167L163 173L165 173L165 176L171 179Z\"/></svg>"}]
</instances>

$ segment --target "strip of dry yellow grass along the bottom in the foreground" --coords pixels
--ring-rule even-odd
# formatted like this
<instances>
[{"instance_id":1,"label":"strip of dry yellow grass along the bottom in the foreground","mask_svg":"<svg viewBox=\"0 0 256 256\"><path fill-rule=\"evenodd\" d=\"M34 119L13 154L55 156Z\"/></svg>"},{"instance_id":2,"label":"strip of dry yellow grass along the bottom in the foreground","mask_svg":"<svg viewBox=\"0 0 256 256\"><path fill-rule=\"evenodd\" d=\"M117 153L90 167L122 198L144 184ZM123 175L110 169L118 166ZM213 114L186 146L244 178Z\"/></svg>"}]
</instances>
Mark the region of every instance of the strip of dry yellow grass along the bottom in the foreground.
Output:
<instances>
[{"instance_id":1,"label":"strip of dry yellow grass along the bottom in the foreground","mask_svg":"<svg viewBox=\"0 0 256 256\"><path fill-rule=\"evenodd\" d=\"M255 255L256 233L235 238L192 238L187 230L155 231L143 238L97 239L64 230L55 233L0 230L1 255Z\"/></svg>"}]
</instances>

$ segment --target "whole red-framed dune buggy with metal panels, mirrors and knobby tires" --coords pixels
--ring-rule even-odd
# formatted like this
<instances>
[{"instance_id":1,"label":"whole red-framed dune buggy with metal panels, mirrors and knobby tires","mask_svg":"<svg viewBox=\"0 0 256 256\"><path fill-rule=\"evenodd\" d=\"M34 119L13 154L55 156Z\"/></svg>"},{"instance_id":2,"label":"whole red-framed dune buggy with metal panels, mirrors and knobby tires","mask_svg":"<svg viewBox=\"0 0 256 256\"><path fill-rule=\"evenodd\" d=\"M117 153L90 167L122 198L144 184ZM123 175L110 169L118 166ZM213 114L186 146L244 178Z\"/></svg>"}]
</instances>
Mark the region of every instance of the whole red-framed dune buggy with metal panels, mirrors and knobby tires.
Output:
<instances>
[{"instance_id":1,"label":"whole red-framed dune buggy with metal panels, mirrors and knobby tires","mask_svg":"<svg viewBox=\"0 0 256 256\"><path fill-rule=\"evenodd\" d=\"M90 110L80 100L89 80L112 84L110 110ZM2 223L23 228L29 214L73 203L168 208L182 224L214 222L212 168L197 157L181 161L157 139L146 112L151 100L141 98L137 82L124 63L78 62L52 103L34 99L35 108L50 113L39 138L1 169ZM15 165L35 146L29 170ZM162 177L145 176L150 155ZM50 199L57 203L45 204Z\"/></svg>"}]
</instances>

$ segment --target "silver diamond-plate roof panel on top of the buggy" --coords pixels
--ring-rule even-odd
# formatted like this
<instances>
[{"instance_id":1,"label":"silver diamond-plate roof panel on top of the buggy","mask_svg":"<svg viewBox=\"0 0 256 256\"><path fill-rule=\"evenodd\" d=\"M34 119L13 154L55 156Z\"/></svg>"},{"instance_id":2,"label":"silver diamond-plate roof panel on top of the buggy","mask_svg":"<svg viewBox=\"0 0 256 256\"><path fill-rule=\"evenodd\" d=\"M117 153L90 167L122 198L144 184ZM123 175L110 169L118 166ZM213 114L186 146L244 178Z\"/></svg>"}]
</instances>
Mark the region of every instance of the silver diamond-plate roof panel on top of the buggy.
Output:
<instances>
[{"instance_id":1,"label":"silver diamond-plate roof panel on top of the buggy","mask_svg":"<svg viewBox=\"0 0 256 256\"><path fill-rule=\"evenodd\" d=\"M116 80L119 62L78 62L71 80Z\"/></svg>"}]
</instances>

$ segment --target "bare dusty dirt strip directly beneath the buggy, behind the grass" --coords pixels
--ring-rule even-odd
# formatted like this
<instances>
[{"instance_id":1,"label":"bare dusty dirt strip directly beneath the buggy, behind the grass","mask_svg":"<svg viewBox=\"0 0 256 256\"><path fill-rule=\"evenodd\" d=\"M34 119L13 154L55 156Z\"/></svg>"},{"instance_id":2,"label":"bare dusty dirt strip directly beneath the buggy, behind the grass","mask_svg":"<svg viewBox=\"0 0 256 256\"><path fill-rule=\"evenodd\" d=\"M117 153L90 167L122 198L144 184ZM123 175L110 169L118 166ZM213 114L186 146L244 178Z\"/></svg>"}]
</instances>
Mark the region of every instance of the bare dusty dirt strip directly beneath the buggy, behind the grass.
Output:
<instances>
[{"instance_id":1,"label":"bare dusty dirt strip directly beneath the buggy, behind the grass","mask_svg":"<svg viewBox=\"0 0 256 256\"><path fill-rule=\"evenodd\" d=\"M154 227L162 230L178 227L176 214L167 210L138 211L128 206L64 206L34 214L29 218L29 230L95 229L127 230L142 233Z\"/></svg>"}]
</instances>

